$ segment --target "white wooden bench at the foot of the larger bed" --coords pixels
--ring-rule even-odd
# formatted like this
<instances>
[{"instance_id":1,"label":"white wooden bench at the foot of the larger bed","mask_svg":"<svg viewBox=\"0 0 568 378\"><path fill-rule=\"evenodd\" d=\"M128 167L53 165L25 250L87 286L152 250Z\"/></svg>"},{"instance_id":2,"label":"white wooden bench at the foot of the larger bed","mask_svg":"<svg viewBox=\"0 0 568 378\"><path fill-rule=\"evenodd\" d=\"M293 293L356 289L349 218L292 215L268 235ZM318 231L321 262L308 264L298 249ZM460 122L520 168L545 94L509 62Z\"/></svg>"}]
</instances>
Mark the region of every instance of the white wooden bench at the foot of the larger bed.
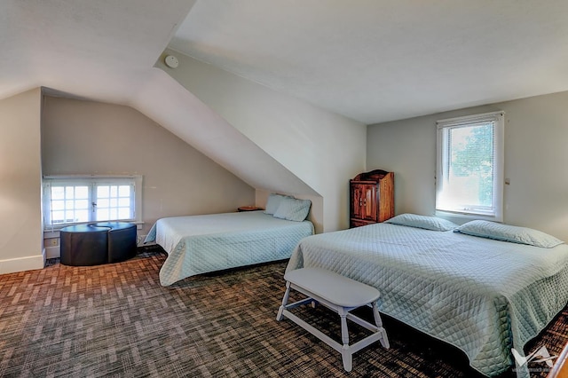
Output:
<instances>
[{"instance_id":1,"label":"white wooden bench at the foot of the larger bed","mask_svg":"<svg viewBox=\"0 0 568 378\"><path fill-rule=\"evenodd\" d=\"M375 287L367 286L356 280L348 279L335 272L329 272L319 268L303 268L287 272L284 275L286 280L286 293L282 299L282 305L276 316L276 320L286 317L298 326L303 327L312 335L319 338L327 345L341 353L343 368L351 372L353 353L365 348L371 343L380 341L384 348L390 348L387 333L383 328L383 321L377 309L377 300L380 297L379 291ZM307 295L308 298L296 303L288 304L290 288ZM303 319L298 318L290 309L304 305L321 303L327 308L336 311L341 318L341 339L343 344L337 343L331 337L323 334L319 329L312 327ZM370 304L373 307L375 325L364 319L351 314L349 311L358 307ZM347 319L359 324L372 331L373 334L367 336L357 343L349 345L349 331L347 329Z\"/></svg>"}]
</instances>

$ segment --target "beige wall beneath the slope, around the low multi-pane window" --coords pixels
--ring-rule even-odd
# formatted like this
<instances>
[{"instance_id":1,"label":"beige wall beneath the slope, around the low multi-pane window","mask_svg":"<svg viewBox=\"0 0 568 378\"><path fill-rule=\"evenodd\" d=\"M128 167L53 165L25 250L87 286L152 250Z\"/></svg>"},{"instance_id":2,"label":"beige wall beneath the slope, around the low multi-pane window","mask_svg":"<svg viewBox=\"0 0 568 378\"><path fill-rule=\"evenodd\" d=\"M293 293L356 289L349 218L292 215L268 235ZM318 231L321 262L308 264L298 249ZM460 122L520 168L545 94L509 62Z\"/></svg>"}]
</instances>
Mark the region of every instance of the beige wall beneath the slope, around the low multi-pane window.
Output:
<instances>
[{"instance_id":1,"label":"beige wall beneath the slope, around the low multi-pane window","mask_svg":"<svg viewBox=\"0 0 568 378\"><path fill-rule=\"evenodd\" d=\"M143 176L145 234L160 217L232 212L255 190L129 106L46 97L43 174Z\"/></svg>"}]
</instances>

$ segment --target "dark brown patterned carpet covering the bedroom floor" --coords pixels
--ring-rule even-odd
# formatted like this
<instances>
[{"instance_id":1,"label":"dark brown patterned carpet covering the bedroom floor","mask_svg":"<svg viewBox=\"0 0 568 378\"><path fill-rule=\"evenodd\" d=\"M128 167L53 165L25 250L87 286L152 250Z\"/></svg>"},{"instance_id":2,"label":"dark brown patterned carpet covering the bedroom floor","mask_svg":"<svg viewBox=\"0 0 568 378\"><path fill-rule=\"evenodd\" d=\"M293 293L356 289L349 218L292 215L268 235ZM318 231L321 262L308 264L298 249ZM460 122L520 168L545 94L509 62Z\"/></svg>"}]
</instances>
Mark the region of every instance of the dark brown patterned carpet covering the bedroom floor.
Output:
<instances>
[{"instance_id":1,"label":"dark brown patterned carpet covering the bedroom floor","mask_svg":"<svg viewBox=\"0 0 568 378\"><path fill-rule=\"evenodd\" d=\"M479 376L460 350L388 318L390 350L376 343L359 351L346 374L339 353L289 320L275 320L285 262L161 287L165 256L141 252L119 264L51 262L40 271L0 276L0 376ZM334 313L302 311L340 338ZM359 312L371 315L368 308ZM564 308L526 349L544 344L559 354L567 323ZM367 335L350 327L354 340Z\"/></svg>"}]
</instances>

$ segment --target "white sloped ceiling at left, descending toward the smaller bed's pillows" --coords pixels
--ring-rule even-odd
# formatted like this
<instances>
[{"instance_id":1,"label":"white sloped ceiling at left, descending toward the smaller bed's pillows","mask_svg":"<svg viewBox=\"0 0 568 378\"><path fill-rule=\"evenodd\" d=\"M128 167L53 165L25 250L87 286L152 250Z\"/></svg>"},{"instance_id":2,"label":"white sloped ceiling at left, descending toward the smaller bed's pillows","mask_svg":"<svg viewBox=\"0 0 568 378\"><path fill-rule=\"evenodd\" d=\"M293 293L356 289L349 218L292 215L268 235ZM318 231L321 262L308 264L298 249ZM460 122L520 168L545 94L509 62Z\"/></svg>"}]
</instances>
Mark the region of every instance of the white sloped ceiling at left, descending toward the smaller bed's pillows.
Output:
<instances>
[{"instance_id":1,"label":"white sloped ceiling at left, descending toward the smaller bed's pillows","mask_svg":"<svg viewBox=\"0 0 568 378\"><path fill-rule=\"evenodd\" d=\"M316 194L154 68L193 4L188 0L3 0L0 98L41 86L52 96L132 106L248 185Z\"/></svg>"}]
</instances>

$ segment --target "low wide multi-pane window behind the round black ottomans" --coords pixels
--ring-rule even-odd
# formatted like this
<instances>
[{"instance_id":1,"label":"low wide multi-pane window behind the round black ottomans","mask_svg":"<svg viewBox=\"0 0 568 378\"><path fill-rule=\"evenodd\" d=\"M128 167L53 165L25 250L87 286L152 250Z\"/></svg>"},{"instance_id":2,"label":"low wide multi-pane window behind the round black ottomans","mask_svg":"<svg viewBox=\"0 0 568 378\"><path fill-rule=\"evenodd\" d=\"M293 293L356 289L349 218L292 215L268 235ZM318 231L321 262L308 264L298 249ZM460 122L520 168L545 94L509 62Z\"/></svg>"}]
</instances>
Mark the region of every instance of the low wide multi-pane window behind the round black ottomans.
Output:
<instances>
[{"instance_id":1,"label":"low wide multi-pane window behind the round black ottomans","mask_svg":"<svg viewBox=\"0 0 568 378\"><path fill-rule=\"evenodd\" d=\"M141 222L141 185L141 176L43 177L44 225Z\"/></svg>"}]
</instances>

